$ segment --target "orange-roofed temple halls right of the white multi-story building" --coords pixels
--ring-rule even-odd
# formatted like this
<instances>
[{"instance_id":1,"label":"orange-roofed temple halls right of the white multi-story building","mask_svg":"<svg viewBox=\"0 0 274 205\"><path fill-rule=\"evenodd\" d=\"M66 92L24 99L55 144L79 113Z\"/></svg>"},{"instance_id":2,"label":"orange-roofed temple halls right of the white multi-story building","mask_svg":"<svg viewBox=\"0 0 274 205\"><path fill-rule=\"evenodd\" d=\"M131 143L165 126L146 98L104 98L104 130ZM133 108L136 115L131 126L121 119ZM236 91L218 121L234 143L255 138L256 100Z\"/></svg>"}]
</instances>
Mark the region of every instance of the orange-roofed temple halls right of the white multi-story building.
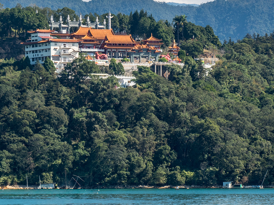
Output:
<instances>
[{"instance_id":1,"label":"orange-roofed temple halls right of the white multi-story building","mask_svg":"<svg viewBox=\"0 0 274 205\"><path fill-rule=\"evenodd\" d=\"M92 29L80 27L71 34L51 33L52 37L82 39L79 43L80 52L94 56L102 52L109 58L130 58L131 62L158 61L161 39L152 36L141 42L136 42L131 35L115 35L112 29Z\"/></svg>"}]
</instances>

